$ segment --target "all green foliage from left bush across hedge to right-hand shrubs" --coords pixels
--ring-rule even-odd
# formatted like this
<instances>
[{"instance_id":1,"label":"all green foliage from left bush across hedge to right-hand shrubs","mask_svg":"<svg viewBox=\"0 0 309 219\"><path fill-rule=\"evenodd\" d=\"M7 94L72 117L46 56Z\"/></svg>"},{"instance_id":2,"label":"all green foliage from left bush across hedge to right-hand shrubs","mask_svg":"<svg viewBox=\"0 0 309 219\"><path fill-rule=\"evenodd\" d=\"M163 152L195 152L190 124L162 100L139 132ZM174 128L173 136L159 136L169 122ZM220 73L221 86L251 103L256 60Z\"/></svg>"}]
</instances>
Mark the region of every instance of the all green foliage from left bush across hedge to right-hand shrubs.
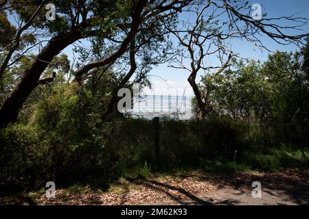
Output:
<instances>
[{"instance_id":1,"label":"all green foliage from left bush across hedge to right-hand shrubs","mask_svg":"<svg viewBox=\"0 0 309 219\"><path fill-rule=\"evenodd\" d=\"M23 57L5 83L30 62ZM20 123L0 131L1 191L42 188L47 181L71 186L71 192L86 183L106 190L118 177L145 179L155 170L309 168L308 46L301 53L275 53L264 64L240 62L206 75L201 88L207 90L209 117L161 119L158 159L151 120L117 111L103 117L119 75L99 68L81 86L69 83L66 55L56 57L45 76L54 71L55 81L27 100Z\"/></svg>"}]
</instances>

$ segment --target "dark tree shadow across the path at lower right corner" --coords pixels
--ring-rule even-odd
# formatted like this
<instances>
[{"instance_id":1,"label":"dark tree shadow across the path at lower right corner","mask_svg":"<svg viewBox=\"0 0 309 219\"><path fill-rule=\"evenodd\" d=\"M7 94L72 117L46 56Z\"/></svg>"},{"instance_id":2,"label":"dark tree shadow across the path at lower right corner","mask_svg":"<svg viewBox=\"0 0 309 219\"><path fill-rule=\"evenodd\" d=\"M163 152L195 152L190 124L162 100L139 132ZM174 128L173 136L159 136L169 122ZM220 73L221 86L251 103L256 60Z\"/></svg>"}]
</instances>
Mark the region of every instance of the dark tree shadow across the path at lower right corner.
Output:
<instances>
[{"instance_id":1,"label":"dark tree shadow across the path at lower right corner","mask_svg":"<svg viewBox=\"0 0 309 219\"><path fill-rule=\"evenodd\" d=\"M226 175L195 175L195 177L218 185L218 188L231 187L240 191L240 194L252 191L252 183L259 181L262 184L262 192L298 205L309 205L309 170L287 170L261 175L239 172Z\"/></svg>"}]
</instances>

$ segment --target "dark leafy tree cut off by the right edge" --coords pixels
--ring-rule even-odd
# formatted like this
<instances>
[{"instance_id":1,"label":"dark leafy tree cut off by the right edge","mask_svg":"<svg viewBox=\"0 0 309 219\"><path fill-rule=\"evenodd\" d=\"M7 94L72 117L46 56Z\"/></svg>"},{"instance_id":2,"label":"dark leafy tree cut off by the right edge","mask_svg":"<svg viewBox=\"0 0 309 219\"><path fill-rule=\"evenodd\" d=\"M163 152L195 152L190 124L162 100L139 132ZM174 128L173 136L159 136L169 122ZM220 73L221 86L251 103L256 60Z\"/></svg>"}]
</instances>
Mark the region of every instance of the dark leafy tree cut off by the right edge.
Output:
<instances>
[{"instance_id":1,"label":"dark leafy tree cut off by the right edge","mask_svg":"<svg viewBox=\"0 0 309 219\"><path fill-rule=\"evenodd\" d=\"M300 53L280 53L269 55L262 72L272 84L273 116L290 122L308 120L308 73L306 59L308 43Z\"/></svg>"}]
</instances>

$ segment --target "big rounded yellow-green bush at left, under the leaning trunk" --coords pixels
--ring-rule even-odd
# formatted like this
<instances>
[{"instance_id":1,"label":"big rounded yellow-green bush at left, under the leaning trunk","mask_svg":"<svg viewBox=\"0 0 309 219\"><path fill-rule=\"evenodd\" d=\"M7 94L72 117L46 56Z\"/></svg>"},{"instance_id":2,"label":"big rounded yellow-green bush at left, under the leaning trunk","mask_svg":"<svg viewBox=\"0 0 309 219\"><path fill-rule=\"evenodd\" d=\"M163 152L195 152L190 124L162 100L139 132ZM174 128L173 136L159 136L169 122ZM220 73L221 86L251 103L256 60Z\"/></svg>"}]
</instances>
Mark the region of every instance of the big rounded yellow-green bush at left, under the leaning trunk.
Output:
<instances>
[{"instance_id":1,"label":"big rounded yellow-green bush at left, under the leaning trunk","mask_svg":"<svg viewBox=\"0 0 309 219\"><path fill-rule=\"evenodd\" d=\"M28 125L2 129L1 186L37 188L51 180L67 185L117 175L117 151L106 146L91 101L89 92L60 87L36 105Z\"/></svg>"}]
</instances>

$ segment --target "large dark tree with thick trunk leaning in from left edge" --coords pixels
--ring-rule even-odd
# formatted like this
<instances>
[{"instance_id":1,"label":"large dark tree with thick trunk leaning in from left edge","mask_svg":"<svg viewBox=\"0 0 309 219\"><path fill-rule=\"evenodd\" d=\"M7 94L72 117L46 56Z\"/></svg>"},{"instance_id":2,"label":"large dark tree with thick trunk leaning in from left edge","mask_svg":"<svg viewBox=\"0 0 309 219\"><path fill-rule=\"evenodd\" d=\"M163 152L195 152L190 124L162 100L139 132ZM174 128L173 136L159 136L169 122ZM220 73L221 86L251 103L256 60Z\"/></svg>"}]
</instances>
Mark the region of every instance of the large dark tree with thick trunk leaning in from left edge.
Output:
<instances>
[{"instance_id":1,"label":"large dark tree with thick trunk leaning in from left edge","mask_svg":"<svg viewBox=\"0 0 309 219\"><path fill-rule=\"evenodd\" d=\"M80 83L82 76L93 68L101 66L111 66L115 61L124 55L130 47L130 42L138 31L150 31L159 21L168 18L171 14L178 13L191 1L52 1L58 7L63 16L57 16L56 21L48 22L44 20L42 13L43 3L34 1L25 3L9 1L12 8L21 17L25 24L21 25L14 39L16 47L19 48L19 38L21 32L29 27L47 31L48 42L43 46L43 41L38 42L43 49L34 57L32 64L24 71L21 79L8 95L0 109L1 127L10 122L14 122L19 114L19 110L25 103L32 90L36 88L44 70L54 57L70 44L76 41L100 36L109 39L117 44L114 50L102 60L95 60L76 70L76 81ZM29 8L29 10L24 10ZM144 24L144 25L141 25ZM142 27L142 29L140 29ZM118 40L114 40L114 36ZM28 48L27 48L28 49ZM21 56L24 55L25 49ZM5 60L11 60L10 53ZM17 58L19 60L19 58ZM14 61L12 61L14 63ZM6 62L1 66L6 68Z\"/></svg>"}]
</instances>

